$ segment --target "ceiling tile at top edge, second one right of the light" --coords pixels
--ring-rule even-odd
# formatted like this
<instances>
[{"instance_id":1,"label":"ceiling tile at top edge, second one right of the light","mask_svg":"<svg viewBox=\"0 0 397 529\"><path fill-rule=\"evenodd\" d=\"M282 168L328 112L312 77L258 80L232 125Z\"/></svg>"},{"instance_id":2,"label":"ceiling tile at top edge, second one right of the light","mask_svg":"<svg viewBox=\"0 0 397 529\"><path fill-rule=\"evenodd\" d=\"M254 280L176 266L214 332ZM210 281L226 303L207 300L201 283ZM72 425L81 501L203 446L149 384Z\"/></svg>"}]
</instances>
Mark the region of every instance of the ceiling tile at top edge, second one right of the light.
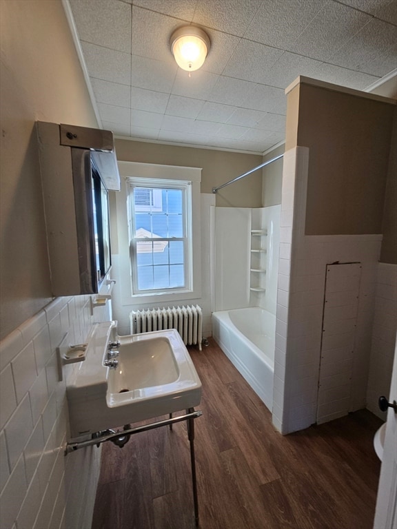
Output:
<instances>
[{"instance_id":1,"label":"ceiling tile at top edge, second one right of the light","mask_svg":"<svg viewBox=\"0 0 397 529\"><path fill-rule=\"evenodd\" d=\"M243 37L285 50L307 28L324 1L264 1Z\"/></svg>"}]
</instances>

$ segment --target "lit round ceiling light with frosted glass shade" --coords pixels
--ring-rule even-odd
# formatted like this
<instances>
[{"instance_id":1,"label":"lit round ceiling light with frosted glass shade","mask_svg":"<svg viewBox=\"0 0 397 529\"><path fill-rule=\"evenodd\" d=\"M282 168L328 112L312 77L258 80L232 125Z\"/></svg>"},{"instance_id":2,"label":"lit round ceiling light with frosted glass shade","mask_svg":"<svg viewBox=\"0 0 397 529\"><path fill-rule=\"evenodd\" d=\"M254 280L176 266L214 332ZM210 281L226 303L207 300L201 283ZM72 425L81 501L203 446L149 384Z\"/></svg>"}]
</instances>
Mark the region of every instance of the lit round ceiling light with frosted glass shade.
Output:
<instances>
[{"instance_id":1,"label":"lit round ceiling light with frosted glass shade","mask_svg":"<svg viewBox=\"0 0 397 529\"><path fill-rule=\"evenodd\" d=\"M179 68L194 72L203 66L211 41L201 28L185 25L172 33L170 45Z\"/></svg>"}]
</instances>

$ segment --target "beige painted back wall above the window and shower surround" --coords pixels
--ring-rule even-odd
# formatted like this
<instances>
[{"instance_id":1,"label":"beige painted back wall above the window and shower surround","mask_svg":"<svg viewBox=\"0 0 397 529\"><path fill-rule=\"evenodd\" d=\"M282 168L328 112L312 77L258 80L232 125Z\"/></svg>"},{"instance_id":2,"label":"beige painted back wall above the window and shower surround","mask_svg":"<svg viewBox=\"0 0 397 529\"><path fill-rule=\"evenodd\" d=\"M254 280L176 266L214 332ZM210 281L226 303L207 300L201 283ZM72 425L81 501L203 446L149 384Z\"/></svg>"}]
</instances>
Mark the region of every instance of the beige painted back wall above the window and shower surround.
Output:
<instances>
[{"instance_id":1,"label":"beige painted back wall above the window and shower surround","mask_svg":"<svg viewBox=\"0 0 397 529\"><path fill-rule=\"evenodd\" d=\"M117 159L125 162L159 163L201 167L201 193L253 169L262 163L262 156L194 149L129 140L116 140ZM261 207L262 174L254 172L216 193L216 205L221 207Z\"/></svg>"}]
</instances>

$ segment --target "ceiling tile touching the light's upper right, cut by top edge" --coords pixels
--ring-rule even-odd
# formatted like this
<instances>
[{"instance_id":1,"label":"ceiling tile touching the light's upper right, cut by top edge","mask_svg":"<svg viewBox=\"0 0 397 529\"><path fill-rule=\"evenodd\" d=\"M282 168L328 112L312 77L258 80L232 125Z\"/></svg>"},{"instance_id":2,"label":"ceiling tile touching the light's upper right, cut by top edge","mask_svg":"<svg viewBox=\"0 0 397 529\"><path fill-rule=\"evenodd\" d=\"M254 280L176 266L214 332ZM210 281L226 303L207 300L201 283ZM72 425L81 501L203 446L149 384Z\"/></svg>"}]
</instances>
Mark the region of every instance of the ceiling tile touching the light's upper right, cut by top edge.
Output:
<instances>
[{"instance_id":1,"label":"ceiling tile touching the light's upper right, cut by top edge","mask_svg":"<svg viewBox=\"0 0 397 529\"><path fill-rule=\"evenodd\" d=\"M200 0L193 21L242 37L259 6L258 0Z\"/></svg>"}]
</instances>

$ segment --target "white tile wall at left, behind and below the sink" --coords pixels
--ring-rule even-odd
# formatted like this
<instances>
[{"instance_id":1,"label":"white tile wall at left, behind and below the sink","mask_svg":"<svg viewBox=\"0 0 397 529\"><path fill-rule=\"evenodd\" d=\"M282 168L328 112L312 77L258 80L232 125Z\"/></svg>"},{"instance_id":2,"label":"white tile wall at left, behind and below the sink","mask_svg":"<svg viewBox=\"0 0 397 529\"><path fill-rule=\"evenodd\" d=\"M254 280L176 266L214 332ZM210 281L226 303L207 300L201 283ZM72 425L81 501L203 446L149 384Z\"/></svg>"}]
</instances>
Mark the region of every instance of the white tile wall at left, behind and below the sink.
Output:
<instances>
[{"instance_id":1,"label":"white tile wall at left, behind and below the sink","mask_svg":"<svg viewBox=\"0 0 397 529\"><path fill-rule=\"evenodd\" d=\"M106 308L92 315L89 296L57 298L1 342L1 528L90 527L101 450L64 455L66 386L55 348L66 332L84 342L92 324L106 319ZM76 366L64 366L64 378Z\"/></svg>"}]
</instances>

